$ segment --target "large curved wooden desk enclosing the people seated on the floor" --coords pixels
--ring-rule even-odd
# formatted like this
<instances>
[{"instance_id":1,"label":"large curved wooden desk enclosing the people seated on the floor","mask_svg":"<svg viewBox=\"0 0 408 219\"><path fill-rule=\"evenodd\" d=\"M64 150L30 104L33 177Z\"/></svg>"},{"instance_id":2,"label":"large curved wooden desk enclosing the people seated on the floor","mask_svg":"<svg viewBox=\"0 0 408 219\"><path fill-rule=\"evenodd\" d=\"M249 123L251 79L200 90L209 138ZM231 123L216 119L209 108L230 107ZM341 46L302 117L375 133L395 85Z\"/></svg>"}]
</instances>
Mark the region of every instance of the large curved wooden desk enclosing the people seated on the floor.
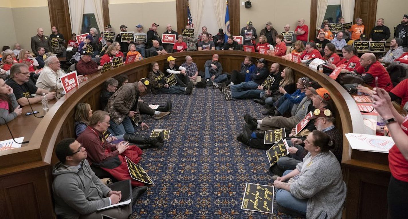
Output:
<instances>
[{"instance_id":1,"label":"large curved wooden desk enclosing the people seated on the floor","mask_svg":"<svg viewBox=\"0 0 408 219\"><path fill-rule=\"evenodd\" d=\"M326 88L333 99L337 112L336 125L343 133L366 133L363 118L354 99L333 79L316 72L303 64L293 63L280 57L247 53L242 51L218 50L219 61L224 72L239 69L248 55L265 58L268 66L277 62L281 67L290 67L296 77L307 76ZM119 74L126 74L129 81L146 77L150 63L157 61L163 68L170 55L177 58L177 64L190 55L199 69L204 69L206 60L211 59L213 51L195 51L172 53L143 59L133 64L122 66L104 74L88 76L89 80L81 84L75 92L62 96L38 123L27 146L20 149L0 151L0 212L5 218L49 218L53 215L51 199L51 168L58 159L54 155L54 145L63 138L75 137L73 114L75 105L80 102L91 104L92 109L100 109L99 95L102 83ZM13 121L11 121L13 123ZM20 123L19 123L20 124ZM27 125L27 127L30 127ZM0 130L4 130L4 126ZM3 132L4 133L4 132ZM21 133L21 136L24 133ZM7 139L7 137L6 137ZM344 138L342 169L348 186L346 199L346 218L384 218L386 215L386 190L390 177L387 154L352 150ZM374 192L375 191L375 192ZM27 195L30 194L30 195ZM22 199L22 197L24 197ZM376 200L373 202L373 200ZM40 204L41 203L41 204ZM24 206L20 210L19 206Z\"/></svg>"}]
</instances>

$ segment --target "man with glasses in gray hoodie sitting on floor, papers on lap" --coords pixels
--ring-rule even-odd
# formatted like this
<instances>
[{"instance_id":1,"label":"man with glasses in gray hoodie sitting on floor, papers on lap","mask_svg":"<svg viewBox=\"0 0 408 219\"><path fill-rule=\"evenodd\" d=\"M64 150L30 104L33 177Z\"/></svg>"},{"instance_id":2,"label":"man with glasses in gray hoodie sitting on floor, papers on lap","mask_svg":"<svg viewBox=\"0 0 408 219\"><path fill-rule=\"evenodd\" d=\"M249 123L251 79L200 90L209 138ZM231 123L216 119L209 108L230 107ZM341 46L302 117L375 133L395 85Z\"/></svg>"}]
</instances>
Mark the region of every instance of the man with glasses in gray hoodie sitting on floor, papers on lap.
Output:
<instances>
[{"instance_id":1,"label":"man with glasses in gray hoodie sitting on floor, papers on lap","mask_svg":"<svg viewBox=\"0 0 408 219\"><path fill-rule=\"evenodd\" d=\"M55 154L60 160L53 168L56 215L61 218L101 218L102 215L114 218L129 217L132 213L131 204L97 211L99 208L124 201L126 186L129 190L129 181L113 183L110 188L104 185L89 166L86 149L74 138L65 138L58 142ZM134 188L132 201L146 190L146 186Z\"/></svg>"}]
</instances>

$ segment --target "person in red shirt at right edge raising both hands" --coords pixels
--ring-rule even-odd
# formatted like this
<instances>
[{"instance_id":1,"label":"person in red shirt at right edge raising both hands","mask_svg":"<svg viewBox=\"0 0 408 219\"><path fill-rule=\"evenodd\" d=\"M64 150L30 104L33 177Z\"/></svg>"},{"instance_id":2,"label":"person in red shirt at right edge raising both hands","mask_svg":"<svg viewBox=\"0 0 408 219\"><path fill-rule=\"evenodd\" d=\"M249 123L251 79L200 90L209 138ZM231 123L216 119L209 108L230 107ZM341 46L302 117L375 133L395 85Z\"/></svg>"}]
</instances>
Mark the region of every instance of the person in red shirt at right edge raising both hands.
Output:
<instances>
[{"instance_id":1,"label":"person in red shirt at right edge raising both hands","mask_svg":"<svg viewBox=\"0 0 408 219\"><path fill-rule=\"evenodd\" d=\"M391 179L388 184L388 212L391 218L408 215L408 116L397 112L390 95L382 88L374 88L373 106L386 121L395 145L388 151Z\"/></svg>"}]
</instances>

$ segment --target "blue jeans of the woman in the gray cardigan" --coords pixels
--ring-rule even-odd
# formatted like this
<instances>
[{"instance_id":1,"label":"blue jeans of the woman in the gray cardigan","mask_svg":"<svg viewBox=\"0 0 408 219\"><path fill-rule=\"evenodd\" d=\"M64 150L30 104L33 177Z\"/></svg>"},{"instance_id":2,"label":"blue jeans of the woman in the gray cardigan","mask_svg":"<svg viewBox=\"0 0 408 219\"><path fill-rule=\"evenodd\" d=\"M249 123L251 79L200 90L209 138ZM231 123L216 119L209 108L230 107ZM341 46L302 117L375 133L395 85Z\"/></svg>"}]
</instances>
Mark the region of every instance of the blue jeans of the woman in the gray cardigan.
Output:
<instances>
[{"instance_id":1,"label":"blue jeans of the woman in the gray cardigan","mask_svg":"<svg viewBox=\"0 0 408 219\"><path fill-rule=\"evenodd\" d=\"M287 175L290 172L292 172L292 170L287 170L283 173L283 175ZM294 212L297 212L299 214L306 215L308 199L298 199L289 191L286 191L282 188L276 189L275 199L276 202L282 207L293 210Z\"/></svg>"}]
</instances>

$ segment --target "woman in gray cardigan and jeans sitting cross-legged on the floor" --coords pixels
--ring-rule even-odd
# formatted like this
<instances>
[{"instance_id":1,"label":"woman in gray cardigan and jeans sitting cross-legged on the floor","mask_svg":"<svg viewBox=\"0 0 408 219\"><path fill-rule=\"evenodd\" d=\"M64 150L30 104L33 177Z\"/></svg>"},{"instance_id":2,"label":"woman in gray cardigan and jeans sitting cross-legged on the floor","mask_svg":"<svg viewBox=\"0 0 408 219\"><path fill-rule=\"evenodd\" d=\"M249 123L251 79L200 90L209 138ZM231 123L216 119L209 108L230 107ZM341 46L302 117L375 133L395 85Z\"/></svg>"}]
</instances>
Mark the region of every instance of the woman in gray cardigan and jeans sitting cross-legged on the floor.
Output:
<instances>
[{"instance_id":1,"label":"woman in gray cardigan and jeans sitting cross-legged on the floor","mask_svg":"<svg viewBox=\"0 0 408 219\"><path fill-rule=\"evenodd\" d=\"M339 162L329 151L334 142L324 132L314 130L304 143L309 152L303 162L273 182L276 201L306 218L341 219L346 184Z\"/></svg>"}]
</instances>

